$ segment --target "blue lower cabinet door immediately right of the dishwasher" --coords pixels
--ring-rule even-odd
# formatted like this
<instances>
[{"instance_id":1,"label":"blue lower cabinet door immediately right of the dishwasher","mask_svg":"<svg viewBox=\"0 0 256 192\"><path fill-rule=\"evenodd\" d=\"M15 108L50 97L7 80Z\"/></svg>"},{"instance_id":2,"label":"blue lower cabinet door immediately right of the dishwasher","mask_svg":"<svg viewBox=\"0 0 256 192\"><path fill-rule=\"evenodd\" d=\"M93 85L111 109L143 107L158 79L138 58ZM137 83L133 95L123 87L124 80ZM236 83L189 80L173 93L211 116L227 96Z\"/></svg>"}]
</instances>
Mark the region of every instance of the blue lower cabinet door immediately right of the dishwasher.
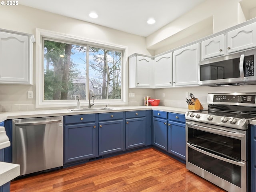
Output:
<instances>
[{"instance_id":1,"label":"blue lower cabinet door immediately right of the dishwasher","mask_svg":"<svg viewBox=\"0 0 256 192\"><path fill-rule=\"evenodd\" d=\"M96 123L65 126L65 163L96 157Z\"/></svg>"}]
</instances>

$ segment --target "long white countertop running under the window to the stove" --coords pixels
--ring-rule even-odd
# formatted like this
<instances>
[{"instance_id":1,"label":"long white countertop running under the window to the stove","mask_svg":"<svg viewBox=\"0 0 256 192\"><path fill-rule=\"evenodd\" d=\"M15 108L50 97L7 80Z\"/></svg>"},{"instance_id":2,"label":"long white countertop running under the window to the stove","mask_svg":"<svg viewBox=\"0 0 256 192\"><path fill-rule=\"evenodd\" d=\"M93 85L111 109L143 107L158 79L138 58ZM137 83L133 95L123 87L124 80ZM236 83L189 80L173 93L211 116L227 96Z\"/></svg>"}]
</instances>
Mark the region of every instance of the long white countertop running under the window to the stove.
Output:
<instances>
[{"instance_id":1,"label":"long white countertop running under the window to the stove","mask_svg":"<svg viewBox=\"0 0 256 192\"><path fill-rule=\"evenodd\" d=\"M165 107L165 106L122 106L122 107L113 107L113 110L92 110L92 111L82 111L82 112L81 111L70 112L68 109L33 110L33 111L1 112L0 122L3 122L7 119L18 119L18 118L66 116L66 115L78 115L78 114L122 112L122 111L133 111L133 110L160 110L160 111L180 113L180 114L185 114L185 112L190 111L187 108L174 108L174 107Z\"/></svg>"}]
</instances>

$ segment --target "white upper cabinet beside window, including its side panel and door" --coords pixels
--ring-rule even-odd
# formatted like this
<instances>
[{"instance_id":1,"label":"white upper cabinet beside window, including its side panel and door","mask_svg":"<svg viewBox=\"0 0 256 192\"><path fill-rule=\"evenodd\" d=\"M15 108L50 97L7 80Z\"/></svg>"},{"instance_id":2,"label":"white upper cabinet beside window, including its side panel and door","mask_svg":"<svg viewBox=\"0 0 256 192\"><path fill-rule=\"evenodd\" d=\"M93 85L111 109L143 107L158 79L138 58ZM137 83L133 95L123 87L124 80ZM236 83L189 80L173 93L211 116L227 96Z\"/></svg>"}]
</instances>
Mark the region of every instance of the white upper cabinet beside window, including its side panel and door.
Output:
<instances>
[{"instance_id":1,"label":"white upper cabinet beside window, including its side panel and door","mask_svg":"<svg viewBox=\"0 0 256 192\"><path fill-rule=\"evenodd\" d=\"M151 88L152 63L150 56L129 57L129 88Z\"/></svg>"}]
</instances>

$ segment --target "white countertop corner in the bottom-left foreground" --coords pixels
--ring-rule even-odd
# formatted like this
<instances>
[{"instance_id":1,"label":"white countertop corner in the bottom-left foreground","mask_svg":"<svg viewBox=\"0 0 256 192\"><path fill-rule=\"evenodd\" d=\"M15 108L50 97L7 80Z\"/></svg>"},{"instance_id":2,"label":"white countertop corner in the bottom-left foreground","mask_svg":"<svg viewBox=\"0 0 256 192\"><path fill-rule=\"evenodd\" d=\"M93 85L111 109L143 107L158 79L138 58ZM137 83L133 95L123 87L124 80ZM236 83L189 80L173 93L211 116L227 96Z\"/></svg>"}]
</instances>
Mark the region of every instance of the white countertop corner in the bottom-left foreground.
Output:
<instances>
[{"instance_id":1,"label":"white countertop corner in the bottom-left foreground","mask_svg":"<svg viewBox=\"0 0 256 192\"><path fill-rule=\"evenodd\" d=\"M20 175L20 165L0 162L0 186Z\"/></svg>"}]
</instances>

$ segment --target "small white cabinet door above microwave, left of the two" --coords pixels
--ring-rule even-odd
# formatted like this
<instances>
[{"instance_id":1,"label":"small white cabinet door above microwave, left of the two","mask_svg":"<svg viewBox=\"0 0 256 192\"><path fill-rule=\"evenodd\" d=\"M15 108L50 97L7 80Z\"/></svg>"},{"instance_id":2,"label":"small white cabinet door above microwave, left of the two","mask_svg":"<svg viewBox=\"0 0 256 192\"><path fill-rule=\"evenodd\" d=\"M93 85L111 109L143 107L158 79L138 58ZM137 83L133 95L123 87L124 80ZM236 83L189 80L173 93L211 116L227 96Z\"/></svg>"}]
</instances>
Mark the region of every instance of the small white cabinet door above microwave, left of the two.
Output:
<instances>
[{"instance_id":1,"label":"small white cabinet door above microwave, left of the two","mask_svg":"<svg viewBox=\"0 0 256 192\"><path fill-rule=\"evenodd\" d=\"M224 34L204 40L202 42L202 58L211 58L225 54Z\"/></svg>"}]
</instances>

